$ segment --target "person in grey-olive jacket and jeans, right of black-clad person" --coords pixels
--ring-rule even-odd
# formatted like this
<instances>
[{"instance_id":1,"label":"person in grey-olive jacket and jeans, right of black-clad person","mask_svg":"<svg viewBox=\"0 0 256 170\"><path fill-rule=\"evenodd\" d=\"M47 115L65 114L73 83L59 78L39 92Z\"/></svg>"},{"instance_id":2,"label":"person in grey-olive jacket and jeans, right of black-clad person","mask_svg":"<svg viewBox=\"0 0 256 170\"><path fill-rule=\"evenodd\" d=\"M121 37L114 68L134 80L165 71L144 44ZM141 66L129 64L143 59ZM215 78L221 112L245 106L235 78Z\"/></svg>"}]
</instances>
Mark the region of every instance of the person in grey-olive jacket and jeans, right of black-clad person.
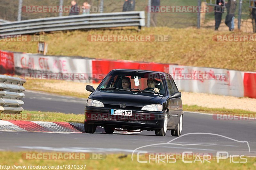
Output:
<instances>
[{"instance_id":1,"label":"person in grey-olive jacket and jeans, right of black-clad person","mask_svg":"<svg viewBox=\"0 0 256 170\"><path fill-rule=\"evenodd\" d=\"M235 17L235 12L236 12L236 0L228 0L227 16L226 16L225 24L228 26L229 31L233 31L232 18Z\"/></svg>"}]
</instances>

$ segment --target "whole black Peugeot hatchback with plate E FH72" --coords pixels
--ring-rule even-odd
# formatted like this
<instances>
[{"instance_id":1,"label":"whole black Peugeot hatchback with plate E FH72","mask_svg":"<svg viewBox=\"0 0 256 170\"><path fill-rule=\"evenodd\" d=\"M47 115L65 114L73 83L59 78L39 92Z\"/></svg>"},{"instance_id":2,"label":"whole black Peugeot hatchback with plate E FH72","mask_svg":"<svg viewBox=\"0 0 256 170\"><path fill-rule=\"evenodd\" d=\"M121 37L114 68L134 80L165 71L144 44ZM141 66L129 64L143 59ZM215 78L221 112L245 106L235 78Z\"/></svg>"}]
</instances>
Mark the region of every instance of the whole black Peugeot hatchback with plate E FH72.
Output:
<instances>
[{"instance_id":1,"label":"whole black Peugeot hatchback with plate E FH72","mask_svg":"<svg viewBox=\"0 0 256 170\"><path fill-rule=\"evenodd\" d=\"M164 72L116 69L92 92L85 107L84 130L94 133L102 126L107 134L115 129L154 130L156 136L180 136L183 126L181 92Z\"/></svg>"}]
</instances>

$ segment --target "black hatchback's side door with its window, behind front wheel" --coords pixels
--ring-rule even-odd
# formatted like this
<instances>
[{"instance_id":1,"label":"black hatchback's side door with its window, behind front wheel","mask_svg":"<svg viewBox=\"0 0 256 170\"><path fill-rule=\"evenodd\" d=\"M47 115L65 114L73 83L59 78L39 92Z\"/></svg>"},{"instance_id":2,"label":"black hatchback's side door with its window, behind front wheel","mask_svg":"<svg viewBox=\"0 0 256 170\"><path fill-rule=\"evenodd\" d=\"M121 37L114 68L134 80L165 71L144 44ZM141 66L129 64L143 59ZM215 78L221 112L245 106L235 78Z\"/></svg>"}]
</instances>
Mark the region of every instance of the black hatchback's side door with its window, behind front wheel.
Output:
<instances>
[{"instance_id":1,"label":"black hatchback's side door with its window, behind front wheel","mask_svg":"<svg viewBox=\"0 0 256 170\"><path fill-rule=\"evenodd\" d=\"M174 88L171 82L171 79L168 75L166 77L166 82L168 86L168 92L169 92L169 100L168 100L168 108L169 108L169 118L168 118L168 127L174 127L176 126L177 117L178 117L178 100L177 99L171 99L171 95L174 93Z\"/></svg>"}]
</instances>

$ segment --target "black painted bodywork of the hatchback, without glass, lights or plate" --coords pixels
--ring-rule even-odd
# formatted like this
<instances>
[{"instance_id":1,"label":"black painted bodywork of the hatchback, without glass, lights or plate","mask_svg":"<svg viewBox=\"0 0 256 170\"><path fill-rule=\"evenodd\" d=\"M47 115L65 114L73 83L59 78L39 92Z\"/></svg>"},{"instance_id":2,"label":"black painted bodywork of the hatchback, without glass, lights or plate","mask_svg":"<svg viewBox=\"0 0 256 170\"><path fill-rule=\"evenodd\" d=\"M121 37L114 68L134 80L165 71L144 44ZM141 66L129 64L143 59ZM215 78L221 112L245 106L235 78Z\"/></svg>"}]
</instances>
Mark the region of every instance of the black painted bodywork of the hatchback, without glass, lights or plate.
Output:
<instances>
[{"instance_id":1,"label":"black painted bodywork of the hatchback, without glass, lights or plate","mask_svg":"<svg viewBox=\"0 0 256 170\"><path fill-rule=\"evenodd\" d=\"M145 93L139 91L106 91L100 90L100 84L97 90L92 92L88 99L98 100L104 104L104 107L86 106L86 123L104 127L111 126L113 128L122 128L127 130L154 130L161 129L163 127L164 115L168 112L168 130L173 130L176 128L179 123L180 116L181 114L183 114L181 93L178 92L176 85L173 85L176 87L177 90L174 90L175 92L173 94L169 94L170 92L168 91L168 83L166 80L166 77L170 77L170 79L172 79L169 74L148 70L116 69L110 71L108 75L113 73L113 71L161 74L164 77L164 80L162 81L163 83L165 83L166 94L155 95L152 93ZM108 77L108 75L106 76L106 78ZM104 79L102 80L102 82L104 81ZM173 79L172 82L174 83ZM86 89L91 91L94 90L91 87L86 87ZM120 108L120 104L126 104L125 110L132 110L132 118L127 119L127 117L114 117L113 115L110 115L111 109L122 109ZM160 112L141 110L143 106L150 104L161 104L163 105L163 110Z\"/></svg>"}]
</instances>

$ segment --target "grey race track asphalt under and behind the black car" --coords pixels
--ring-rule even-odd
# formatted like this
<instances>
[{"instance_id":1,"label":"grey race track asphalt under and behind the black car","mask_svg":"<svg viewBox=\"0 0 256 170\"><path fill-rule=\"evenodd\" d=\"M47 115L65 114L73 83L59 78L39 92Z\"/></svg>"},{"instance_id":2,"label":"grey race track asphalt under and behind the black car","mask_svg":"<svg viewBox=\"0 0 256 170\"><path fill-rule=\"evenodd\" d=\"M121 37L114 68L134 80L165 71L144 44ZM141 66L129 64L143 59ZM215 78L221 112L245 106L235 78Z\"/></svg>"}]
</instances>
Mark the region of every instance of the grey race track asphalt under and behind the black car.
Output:
<instances>
[{"instance_id":1,"label":"grey race track asphalt under and behind the black car","mask_svg":"<svg viewBox=\"0 0 256 170\"><path fill-rule=\"evenodd\" d=\"M86 99L25 92L24 109L83 114ZM153 131L137 134L1 132L0 151L132 153L216 153L256 156L255 120L215 120L212 115L184 112L181 137L156 137ZM194 133L194 134L189 134ZM195 134L200 133L200 134ZM206 134L207 133L207 134ZM167 142L175 139L167 144ZM145 145L151 145L146 146ZM250 152L249 152L250 147Z\"/></svg>"}]
</instances>

